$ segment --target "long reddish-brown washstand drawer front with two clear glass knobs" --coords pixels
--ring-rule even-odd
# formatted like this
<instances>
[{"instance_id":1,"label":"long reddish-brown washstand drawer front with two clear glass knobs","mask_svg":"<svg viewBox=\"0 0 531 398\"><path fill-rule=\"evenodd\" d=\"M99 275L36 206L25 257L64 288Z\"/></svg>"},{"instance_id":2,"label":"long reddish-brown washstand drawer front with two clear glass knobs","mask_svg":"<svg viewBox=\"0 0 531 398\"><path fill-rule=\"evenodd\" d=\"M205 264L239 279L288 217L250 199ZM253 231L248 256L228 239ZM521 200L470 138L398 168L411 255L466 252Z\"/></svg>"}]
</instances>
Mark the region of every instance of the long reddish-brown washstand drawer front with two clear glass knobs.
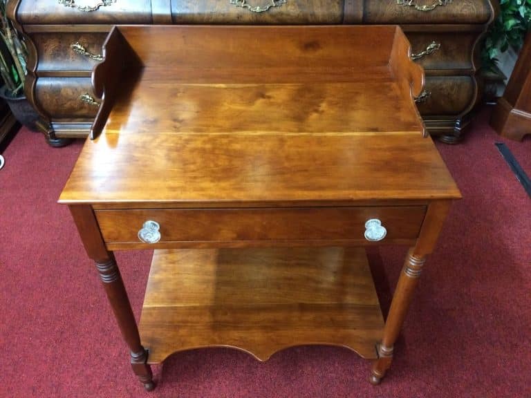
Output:
<instances>
[{"instance_id":1,"label":"long reddish-brown washstand drawer front with two clear glass knobs","mask_svg":"<svg viewBox=\"0 0 531 398\"><path fill-rule=\"evenodd\" d=\"M286 209L97 210L109 243L140 243L147 220L160 225L160 243L252 240L364 240L365 222L378 218L384 240L416 238L425 207L310 207Z\"/></svg>"}]
</instances>

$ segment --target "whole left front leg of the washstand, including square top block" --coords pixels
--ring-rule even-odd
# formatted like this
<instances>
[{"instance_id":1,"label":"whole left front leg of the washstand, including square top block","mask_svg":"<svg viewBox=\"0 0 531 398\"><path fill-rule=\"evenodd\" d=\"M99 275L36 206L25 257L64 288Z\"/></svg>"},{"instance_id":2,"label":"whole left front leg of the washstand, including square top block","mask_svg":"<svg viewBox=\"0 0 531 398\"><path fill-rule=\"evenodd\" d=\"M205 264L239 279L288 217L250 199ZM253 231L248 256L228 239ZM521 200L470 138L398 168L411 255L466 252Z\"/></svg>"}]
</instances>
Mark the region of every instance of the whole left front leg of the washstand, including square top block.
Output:
<instances>
[{"instance_id":1,"label":"whole left front leg of the washstand, including square top block","mask_svg":"<svg viewBox=\"0 0 531 398\"><path fill-rule=\"evenodd\" d=\"M138 376L140 382L144 384L146 390L153 390L155 384L153 383L151 366L147 364L147 351L140 343L138 325L136 324L114 255L112 252L108 252L105 247L91 207L88 205L71 205L70 211L80 232L86 252L96 263L97 271L100 273L102 285L113 309L115 319L125 342L129 346L129 350L131 350L133 372Z\"/></svg>"}]
</instances>

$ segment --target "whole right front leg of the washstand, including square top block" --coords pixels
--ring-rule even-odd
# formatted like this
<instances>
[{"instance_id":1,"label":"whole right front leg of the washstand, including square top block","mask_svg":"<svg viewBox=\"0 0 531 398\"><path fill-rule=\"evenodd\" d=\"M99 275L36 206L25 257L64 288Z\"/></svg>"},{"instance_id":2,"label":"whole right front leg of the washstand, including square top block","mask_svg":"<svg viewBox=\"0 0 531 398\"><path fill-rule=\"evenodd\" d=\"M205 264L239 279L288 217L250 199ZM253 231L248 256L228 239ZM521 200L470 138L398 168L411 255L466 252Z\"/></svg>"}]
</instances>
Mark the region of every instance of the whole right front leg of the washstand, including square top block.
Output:
<instances>
[{"instance_id":1,"label":"whole right front leg of the washstand, including square top block","mask_svg":"<svg viewBox=\"0 0 531 398\"><path fill-rule=\"evenodd\" d=\"M385 372L391 366L393 359L393 347L402 323L409 309L409 304L413 299L413 292L418 284L418 278L422 272L427 254L430 254L436 244L440 229L447 216L450 202L439 200L432 202L429 207L420 229L415 247L412 247L404 261L404 267L400 272L391 308L385 321L384 336L382 342L378 344L378 359L373 363L371 383L378 384L382 381Z\"/></svg>"}]
</instances>

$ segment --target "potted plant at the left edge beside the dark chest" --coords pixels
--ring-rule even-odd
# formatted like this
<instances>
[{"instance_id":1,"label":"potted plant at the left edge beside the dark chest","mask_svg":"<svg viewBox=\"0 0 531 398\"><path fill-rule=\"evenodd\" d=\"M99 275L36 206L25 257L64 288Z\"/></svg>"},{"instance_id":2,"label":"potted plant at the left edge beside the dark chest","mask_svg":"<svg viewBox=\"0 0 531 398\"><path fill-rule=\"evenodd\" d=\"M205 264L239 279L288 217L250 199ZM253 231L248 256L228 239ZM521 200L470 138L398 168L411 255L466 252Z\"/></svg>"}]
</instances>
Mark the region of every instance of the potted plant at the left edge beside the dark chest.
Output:
<instances>
[{"instance_id":1,"label":"potted plant at the left edge beside the dark chest","mask_svg":"<svg viewBox=\"0 0 531 398\"><path fill-rule=\"evenodd\" d=\"M9 105L15 118L32 130L39 115L24 95L28 50L24 38L6 15L7 0L0 0L0 97Z\"/></svg>"}]
</instances>

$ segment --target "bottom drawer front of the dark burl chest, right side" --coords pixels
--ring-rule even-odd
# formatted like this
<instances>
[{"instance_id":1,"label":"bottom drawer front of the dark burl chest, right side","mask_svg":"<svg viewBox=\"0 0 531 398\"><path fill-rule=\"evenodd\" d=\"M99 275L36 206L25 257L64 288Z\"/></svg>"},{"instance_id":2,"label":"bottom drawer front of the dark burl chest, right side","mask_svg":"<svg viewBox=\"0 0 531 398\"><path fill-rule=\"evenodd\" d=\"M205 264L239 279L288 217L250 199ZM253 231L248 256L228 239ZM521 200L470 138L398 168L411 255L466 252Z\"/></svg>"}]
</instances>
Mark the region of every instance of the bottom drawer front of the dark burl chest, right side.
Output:
<instances>
[{"instance_id":1,"label":"bottom drawer front of the dark burl chest, right side","mask_svg":"<svg viewBox=\"0 0 531 398\"><path fill-rule=\"evenodd\" d=\"M431 96L417 104L421 115L458 115L476 102L471 76L427 76L425 91Z\"/></svg>"}]
</instances>

